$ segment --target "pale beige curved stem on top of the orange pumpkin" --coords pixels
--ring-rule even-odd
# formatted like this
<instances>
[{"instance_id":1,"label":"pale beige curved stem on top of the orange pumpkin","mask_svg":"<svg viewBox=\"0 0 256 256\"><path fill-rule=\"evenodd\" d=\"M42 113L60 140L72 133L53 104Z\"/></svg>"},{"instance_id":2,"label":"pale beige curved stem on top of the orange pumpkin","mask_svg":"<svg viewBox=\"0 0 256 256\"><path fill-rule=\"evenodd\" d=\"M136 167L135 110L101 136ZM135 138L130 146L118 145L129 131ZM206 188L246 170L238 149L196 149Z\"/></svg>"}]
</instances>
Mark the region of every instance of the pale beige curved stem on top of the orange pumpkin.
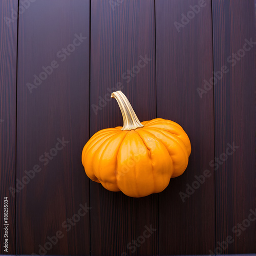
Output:
<instances>
[{"instance_id":1,"label":"pale beige curved stem on top of the orange pumpkin","mask_svg":"<svg viewBox=\"0 0 256 256\"><path fill-rule=\"evenodd\" d=\"M113 92L111 94L111 98L115 98L117 100L119 108L122 112L122 116L123 116L123 127L121 129L122 131L125 131L125 130L131 131L144 126L136 116L129 100L121 91Z\"/></svg>"}]
</instances>

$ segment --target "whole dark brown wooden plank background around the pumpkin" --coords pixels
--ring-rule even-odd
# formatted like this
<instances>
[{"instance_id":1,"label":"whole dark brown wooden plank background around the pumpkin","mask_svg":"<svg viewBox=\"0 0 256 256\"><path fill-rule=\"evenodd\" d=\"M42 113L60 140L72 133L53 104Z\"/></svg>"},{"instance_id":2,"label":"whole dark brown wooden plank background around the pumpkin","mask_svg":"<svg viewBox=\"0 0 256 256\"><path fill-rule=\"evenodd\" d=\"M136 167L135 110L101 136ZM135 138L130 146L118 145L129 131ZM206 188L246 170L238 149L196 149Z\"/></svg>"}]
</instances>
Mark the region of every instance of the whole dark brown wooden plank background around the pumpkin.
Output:
<instances>
[{"instance_id":1,"label":"whole dark brown wooden plank background around the pumpkin","mask_svg":"<svg viewBox=\"0 0 256 256\"><path fill-rule=\"evenodd\" d=\"M241 51L245 39L256 41L254 8L253 0L0 0L0 254L255 253L256 221L234 232L256 210L256 46ZM60 56L76 35L81 44ZM141 58L149 59L145 67L127 77ZM58 67L30 93L27 83L52 61ZM222 66L228 72L200 97L198 88ZM84 173L81 151L90 136L122 125L109 100L117 84L141 121L176 121L190 138L185 173L162 193L130 198ZM68 143L44 165L40 156L58 138ZM239 148L214 168L228 143ZM10 187L35 165L40 172L13 196ZM211 176L183 202L180 192L205 169ZM63 223L81 204L91 209L67 230ZM145 226L156 230L132 248ZM218 249L228 236L233 242Z\"/></svg>"}]
</instances>

